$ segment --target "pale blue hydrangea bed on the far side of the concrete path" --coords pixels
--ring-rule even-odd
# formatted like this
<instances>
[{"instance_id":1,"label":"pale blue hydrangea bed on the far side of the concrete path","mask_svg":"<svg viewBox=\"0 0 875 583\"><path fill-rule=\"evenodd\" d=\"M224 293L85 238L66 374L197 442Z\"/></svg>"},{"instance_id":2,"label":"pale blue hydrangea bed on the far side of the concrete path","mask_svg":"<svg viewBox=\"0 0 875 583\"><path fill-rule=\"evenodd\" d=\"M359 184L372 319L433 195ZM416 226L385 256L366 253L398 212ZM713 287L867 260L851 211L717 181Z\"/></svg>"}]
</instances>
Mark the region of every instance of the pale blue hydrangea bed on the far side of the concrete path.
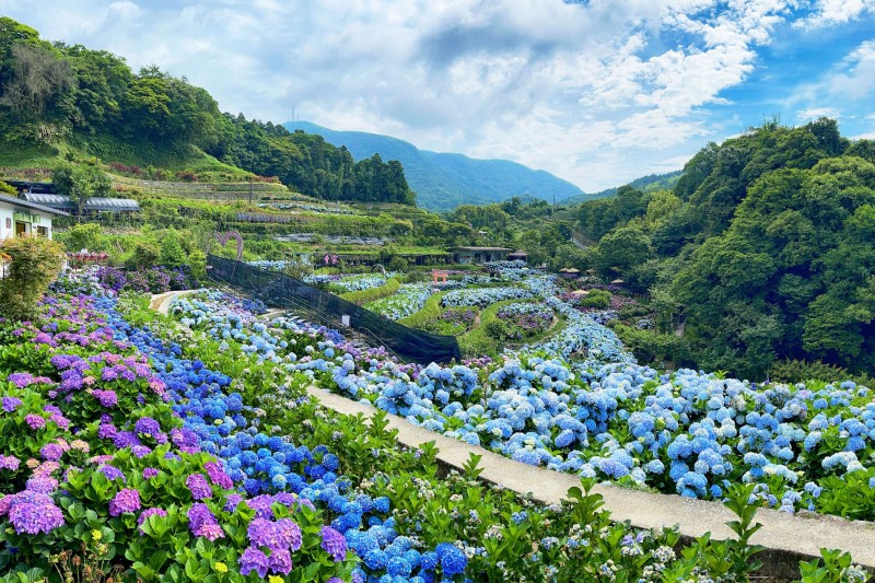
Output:
<instances>
[{"instance_id":1,"label":"pale blue hydrangea bed on the far side of the concrete path","mask_svg":"<svg viewBox=\"0 0 875 583\"><path fill-rule=\"evenodd\" d=\"M341 342L289 366L528 464L704 499L755 483L773 508L873 517L875 404L867 388L660 373L634 364L588 316L549 302L567 312L568 327L494 364L398 365L360 358ZM270 337L265 329L262 347Z\"/></svg>"}]
</instances>

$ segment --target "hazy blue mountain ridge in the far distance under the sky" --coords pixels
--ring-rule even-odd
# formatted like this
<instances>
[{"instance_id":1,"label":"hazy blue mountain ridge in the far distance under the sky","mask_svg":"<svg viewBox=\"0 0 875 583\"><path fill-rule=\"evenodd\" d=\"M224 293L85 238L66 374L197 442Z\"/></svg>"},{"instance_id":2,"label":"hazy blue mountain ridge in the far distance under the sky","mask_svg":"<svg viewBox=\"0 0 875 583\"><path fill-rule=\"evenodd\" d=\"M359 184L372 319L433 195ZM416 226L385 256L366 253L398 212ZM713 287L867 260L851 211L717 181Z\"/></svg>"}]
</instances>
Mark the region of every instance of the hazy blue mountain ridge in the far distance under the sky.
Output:
<instances>
[{"instance_id":1,"label":"hazy blue mountain ridge in the far distance under the sky","mask_svg":"<svg viewBox=\"0 0 875 583\"><path fill-rule=\"evenodd\" d=\"M338 131L310 121L283 124L289 131L317 133L336 147L345 145L354 160L380 154L384 162L397 160L407 183L417 193L417 205L450 211L459 205L488 205L513 196L532 195L562 201L590 196L549 172L532 170L506 160L477 160L464 154L420 150L410 142L364 131Z\"/></svg>"}]
</instances>

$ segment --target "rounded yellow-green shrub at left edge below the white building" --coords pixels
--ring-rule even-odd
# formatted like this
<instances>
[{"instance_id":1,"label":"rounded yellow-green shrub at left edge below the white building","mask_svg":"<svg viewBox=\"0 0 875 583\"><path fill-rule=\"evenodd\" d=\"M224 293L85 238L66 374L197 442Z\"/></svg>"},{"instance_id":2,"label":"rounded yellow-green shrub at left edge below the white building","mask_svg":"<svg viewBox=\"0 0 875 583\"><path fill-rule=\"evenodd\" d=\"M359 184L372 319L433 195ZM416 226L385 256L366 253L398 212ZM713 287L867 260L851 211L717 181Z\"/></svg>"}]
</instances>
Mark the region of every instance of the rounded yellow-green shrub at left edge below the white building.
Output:
<instances>
[{"instance_id":1,"label":"rounded yellow-green shrub at left edge below the white building","mask_svg":"<svg viewBox=\"0 0 875 583\"><path fill-rule=\"evenodd\" d=\"M0 314L10 319L32 319L43 294L60 273L63 248L42 237L15 237L0 242L8 258L7 277L0 280Z\"/></svg>"}]
</instances>

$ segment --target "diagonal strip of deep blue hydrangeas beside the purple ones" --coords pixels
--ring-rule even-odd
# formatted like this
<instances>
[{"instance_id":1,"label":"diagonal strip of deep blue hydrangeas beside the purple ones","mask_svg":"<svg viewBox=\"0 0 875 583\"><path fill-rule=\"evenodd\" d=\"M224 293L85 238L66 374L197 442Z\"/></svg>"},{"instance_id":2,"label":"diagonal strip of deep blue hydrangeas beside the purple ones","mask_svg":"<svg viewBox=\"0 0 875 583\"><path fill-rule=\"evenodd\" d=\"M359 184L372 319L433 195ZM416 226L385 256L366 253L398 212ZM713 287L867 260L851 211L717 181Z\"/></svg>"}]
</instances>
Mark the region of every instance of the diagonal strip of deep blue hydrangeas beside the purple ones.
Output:
<instances>
[{"instance_id":1,"label":"diagonal strip of deep blue hydrangeas beside the purple ones","mask_svg":"<svg viewBox=\"0 0 875 583\"><path fill-rule=\"evenodd\" d=\"M210 302L220 301L214 294L210 298ZM350 480L338 475L339 459L327 447L311 450L261 431L257 409L244 405L240 394L230 392L231 377L209 370L199 360L182 358L178 345L166 345L148 329L131 327L115 311L114 300L100 300L97 307L107 315L117 340L130 341L154 363L174 411L184 421L178 439L189 447L218 456L228 477L248 497L250 506L257 510L259 500L266 499L269 508L271 495L276 494L279 501L279 497L292 493L295 503L334 514L331 528L342 534L364 562L362 580L389 575L392 581L427 583L436 581L439 573L452 576L464 572L467 559L453 545L439 545L433 551L413 550L410 540L398 536L395 529L389 499L353 494ZM246 341L250 336L246 335ZM447 387L454 385L452 380L441 382Z\"/></svg>"}]
</instances>

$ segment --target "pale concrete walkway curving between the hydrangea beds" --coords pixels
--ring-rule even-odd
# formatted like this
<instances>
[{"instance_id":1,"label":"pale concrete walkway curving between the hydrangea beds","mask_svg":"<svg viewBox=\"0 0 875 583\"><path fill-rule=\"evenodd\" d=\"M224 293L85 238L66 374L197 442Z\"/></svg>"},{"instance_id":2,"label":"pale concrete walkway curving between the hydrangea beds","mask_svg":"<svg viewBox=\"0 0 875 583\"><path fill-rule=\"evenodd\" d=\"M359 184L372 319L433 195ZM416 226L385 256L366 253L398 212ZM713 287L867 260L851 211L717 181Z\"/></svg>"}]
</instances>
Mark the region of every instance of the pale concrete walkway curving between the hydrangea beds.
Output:
<instances>
[{"instance_id":1,"label":"pale concrete walkway curving between the hydrangea beds","mask_svg":"<svg viewBox=\"0 0 875 583\"><path fill-rule=\"evenodd\" d=\"M153 296L153 310L163 311L170 306L174 295L191 292L171 292ZM163 310L162 310L163 308ZM373 407L352 401L327 389L310 387L310 395L339 413L371 417ZM460 469L471 453L482 456L480 478L501 485L520 494L532 493L534 499L557 504L565 498L572 487L580 486L580 478L572 474L553 471L515 462L483 447L469 445L459 440L446 438L415 425L406 419L387 413L389 428L398 430L398 442L408 447L418 447L435 442L438 459ZM604 497L604 509L610 511L618 522L629 521L640 528L661 528L677 525L681 535L699 537L710 532L714 538L734 538L726 522L735 520L734 514L719 502L693 500L676 494L660 494L598 485L595 492ZM821 548L849 551L856 564L875 569L875 524L847 521L837 516L813 513L797 515L760 510L757 522L762 528L754 535L751 543L766 547L765 571L767 574L797 572L800 559L819 557Z\"/></svg>"}]
</instances>

